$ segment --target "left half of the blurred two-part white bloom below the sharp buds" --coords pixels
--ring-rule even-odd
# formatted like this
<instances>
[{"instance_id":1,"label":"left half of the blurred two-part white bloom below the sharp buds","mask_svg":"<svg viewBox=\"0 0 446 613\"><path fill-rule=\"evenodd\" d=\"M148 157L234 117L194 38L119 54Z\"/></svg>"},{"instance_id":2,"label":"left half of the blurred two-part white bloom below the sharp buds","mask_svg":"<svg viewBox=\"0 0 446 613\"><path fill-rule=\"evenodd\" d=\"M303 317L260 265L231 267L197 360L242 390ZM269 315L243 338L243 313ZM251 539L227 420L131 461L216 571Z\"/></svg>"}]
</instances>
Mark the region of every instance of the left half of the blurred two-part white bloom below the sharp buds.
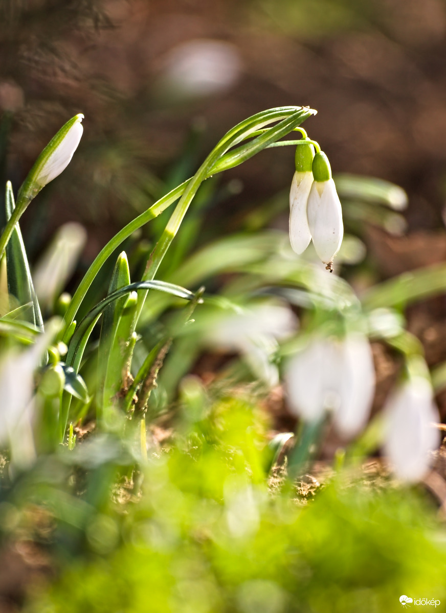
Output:
<instances>
[{"instance_id":1,"label":"left half of the blurred two-part white bloom below the sharp buds","mask_svg":"<svg viewBox=\"0 0 446 613\"><path fill-rule=\"evenodd\" d=\"M285 368L285 388L291 411L306 421L322 417L331 392L333 348L329 341L314 340L293 356Z\"/></svg>"}]
</instances>

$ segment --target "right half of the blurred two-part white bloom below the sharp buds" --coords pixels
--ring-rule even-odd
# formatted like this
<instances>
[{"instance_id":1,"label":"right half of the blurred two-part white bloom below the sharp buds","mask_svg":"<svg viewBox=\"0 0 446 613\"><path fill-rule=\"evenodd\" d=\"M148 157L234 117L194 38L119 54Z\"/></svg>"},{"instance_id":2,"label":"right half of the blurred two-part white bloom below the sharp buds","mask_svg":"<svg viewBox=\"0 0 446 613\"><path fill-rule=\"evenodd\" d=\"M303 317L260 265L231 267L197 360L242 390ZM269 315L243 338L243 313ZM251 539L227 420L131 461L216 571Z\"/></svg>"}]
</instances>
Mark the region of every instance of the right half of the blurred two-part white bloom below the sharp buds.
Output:
<instances>
[{"instance_id":1,"label":"right half of the blurred two-part white bloom below the sharp buds","mask_svg":"<svg viewBox=\"0 0 446 613\"><path fill-rule=\"evenodd\" d=\"M367 423L375 393L375 369L369 341L348 335L341 345L339 409L334 424L345 438L352 438Z\"/></svg>"}]
</instances>

